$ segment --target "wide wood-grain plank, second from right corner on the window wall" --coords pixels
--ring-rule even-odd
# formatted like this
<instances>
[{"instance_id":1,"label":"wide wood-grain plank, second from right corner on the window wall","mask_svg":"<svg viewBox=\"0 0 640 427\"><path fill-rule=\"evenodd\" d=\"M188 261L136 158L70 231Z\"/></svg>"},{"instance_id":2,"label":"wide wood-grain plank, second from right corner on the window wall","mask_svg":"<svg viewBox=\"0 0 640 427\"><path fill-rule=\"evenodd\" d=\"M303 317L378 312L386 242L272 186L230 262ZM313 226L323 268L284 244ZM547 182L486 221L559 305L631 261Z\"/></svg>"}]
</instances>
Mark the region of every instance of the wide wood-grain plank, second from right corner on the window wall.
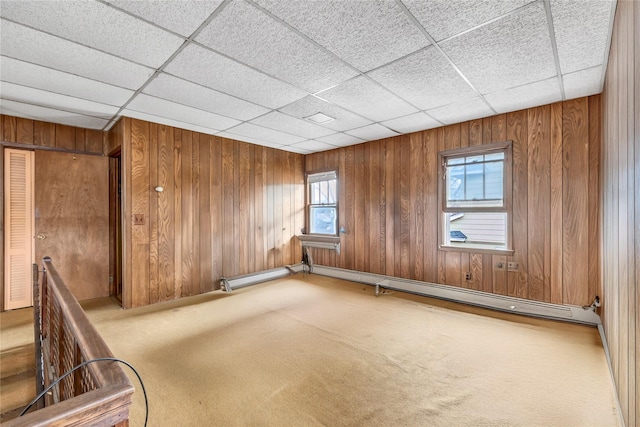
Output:
<instances>
[{"instance_id":1,"label":"wide wood-grain plank, second from right corner on the window wall","mask_svg":"<svg viewBox=\"0 0 640 427\"><path fill-rule=\"evenodd\" d=\"M588 305L589 266L589 105L568 101L563 123L563 301ZM625 159L626 161L626 159ZM582 268L578 268L582 266Z\"/></svg>"}]
</instances>

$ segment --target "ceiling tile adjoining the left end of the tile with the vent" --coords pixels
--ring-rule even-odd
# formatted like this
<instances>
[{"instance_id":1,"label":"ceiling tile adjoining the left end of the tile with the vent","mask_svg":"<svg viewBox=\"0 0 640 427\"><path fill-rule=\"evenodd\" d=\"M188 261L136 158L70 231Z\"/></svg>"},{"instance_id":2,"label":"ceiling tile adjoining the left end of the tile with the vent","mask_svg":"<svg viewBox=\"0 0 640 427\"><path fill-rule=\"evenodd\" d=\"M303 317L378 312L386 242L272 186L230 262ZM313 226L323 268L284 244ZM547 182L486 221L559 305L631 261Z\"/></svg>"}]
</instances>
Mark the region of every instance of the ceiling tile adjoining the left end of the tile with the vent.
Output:
<instances>
[{"instance_id":1,"label":"ceiling tile adjoining the left end of the tile with the vent","mask_svg":"<svg viewBox=\"0 0 640 427\"><path fill-rule=\"evenodd\" d=\"M282 107L307 95L288 83L195 44L184 48L164 71L268 108Z\"/></svg>"}]
</instances>

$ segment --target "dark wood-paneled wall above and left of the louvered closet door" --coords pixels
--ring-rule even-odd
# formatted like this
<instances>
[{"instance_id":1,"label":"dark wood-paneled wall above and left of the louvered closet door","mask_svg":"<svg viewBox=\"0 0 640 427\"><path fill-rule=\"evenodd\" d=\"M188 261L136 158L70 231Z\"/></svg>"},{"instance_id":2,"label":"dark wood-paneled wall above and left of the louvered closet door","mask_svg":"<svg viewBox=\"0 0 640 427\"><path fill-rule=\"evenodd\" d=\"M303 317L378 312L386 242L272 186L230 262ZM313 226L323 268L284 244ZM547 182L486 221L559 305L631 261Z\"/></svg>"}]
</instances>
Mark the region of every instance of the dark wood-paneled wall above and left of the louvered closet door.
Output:
<instances>
[{"instance_id":1,"label":"dark wood-paneled wall above and left of the louvered closet door","mask_svg":"<svg viewBox=\"0 0 640 427\"><path fill-rule=\"evenodd\" d=\"M104 133L0 114L0 140L25 148L102 153ZM4 153L0 152L0 310L4 307ZM38 261L38 260L36 260ZM38 261L39 262L39 261Z\"/></svg>"}]
</instances>

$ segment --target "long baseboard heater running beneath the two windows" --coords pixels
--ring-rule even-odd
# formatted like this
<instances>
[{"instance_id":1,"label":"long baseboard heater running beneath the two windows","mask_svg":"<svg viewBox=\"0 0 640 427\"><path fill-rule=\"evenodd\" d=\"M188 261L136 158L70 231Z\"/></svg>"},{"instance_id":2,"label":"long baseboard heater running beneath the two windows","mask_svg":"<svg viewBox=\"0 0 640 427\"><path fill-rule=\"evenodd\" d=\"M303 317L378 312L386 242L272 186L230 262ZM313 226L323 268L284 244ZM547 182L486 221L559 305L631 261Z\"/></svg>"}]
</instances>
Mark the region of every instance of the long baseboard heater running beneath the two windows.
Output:
<instances>
[{"instance_id":1,"label":"long baseboard heater running beneath the two windows","mask_svg":"<svg viewBox=\"0 0 640 427\"><path fill-rule=\"evenodd\" d=\"M380 274L364 273L335 267L325 267L317 264L313 266L313 273L373 285L376 287L376 291L380 288L393 289L447 301L459 302L462 304L489 308L492 310L504 311L507 313L562 320L592 326L602 324L600 316L598 316L595 311L589 307L584 308L579 306L530 301L522 298L490 294L473 289L455 288L452 286L438 285L418 280L400 279ZM378 292L376 292L376 294L378 294Z\"/></svg>"}]
</instances>

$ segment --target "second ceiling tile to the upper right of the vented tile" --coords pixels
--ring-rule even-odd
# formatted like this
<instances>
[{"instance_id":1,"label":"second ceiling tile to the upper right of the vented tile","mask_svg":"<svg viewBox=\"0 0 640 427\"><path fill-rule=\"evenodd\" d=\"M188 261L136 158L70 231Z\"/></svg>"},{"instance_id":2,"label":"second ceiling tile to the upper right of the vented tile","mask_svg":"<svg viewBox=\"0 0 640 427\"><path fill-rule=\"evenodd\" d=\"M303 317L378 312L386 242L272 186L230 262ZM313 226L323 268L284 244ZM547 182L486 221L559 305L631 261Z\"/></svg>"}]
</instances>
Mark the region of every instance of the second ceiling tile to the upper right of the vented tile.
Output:
<instances>
[{"instance_id":1,"label":"second ceiling tile to the upper right of the vented tile","mask_svg":"<svg viewBox=\"0 0 640 427\"><path fill-rule=\"evenodd\" d=\"M435 48L379 68L369 76L422 110L476 94Z\"/></svg>"}]
</instances>

